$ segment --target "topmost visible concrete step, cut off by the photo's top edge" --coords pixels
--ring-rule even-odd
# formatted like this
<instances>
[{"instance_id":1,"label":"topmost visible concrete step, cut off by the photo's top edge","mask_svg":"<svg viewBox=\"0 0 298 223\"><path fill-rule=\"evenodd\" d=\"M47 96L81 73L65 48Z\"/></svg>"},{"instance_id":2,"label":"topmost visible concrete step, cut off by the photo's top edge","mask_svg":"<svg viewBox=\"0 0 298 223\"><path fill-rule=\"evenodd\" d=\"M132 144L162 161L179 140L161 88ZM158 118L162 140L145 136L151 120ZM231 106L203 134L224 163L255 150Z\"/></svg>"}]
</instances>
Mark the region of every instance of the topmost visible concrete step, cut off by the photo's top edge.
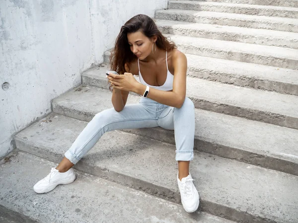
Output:
<instances>
[{"instance_id":1,"label":"topmost visible concrete step, cut off by the photo's top edge","mask_svg":"<svg viewBox=\"0 0 298 223\"><path fill-rule=\"evenodd\" d=\"M201 0L194 0L194 1L201 1ZM298 0L204 0L204 1L298 7Z\"/></svg>"}]
</instances>

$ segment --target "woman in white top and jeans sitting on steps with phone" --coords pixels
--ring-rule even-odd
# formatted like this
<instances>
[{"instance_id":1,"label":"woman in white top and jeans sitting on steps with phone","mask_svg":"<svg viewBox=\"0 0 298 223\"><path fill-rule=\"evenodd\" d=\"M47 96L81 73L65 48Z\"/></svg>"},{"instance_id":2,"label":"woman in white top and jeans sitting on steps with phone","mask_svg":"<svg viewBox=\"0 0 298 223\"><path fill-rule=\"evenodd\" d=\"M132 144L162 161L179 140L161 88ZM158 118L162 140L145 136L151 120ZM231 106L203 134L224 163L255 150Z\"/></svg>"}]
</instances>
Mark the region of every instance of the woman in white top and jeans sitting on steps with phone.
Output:
<instances>
[{"instance_id":1,"label":"woman in white top and jeans sitting on steps with phone","mask_svg":"<svg viewBox=\"0 0 298 223\"><path fill-rule=\"evenodd\" d=\"M79 134L65 158L34 185L46 193L74 181L73 167L108 131L160 126L175 130L177 182L187 212L199 206L199 194L189 173L193 160L194 104L186 95L186 56L176 49L147 15L128 20L116 39L108 82L113 87L112 109L97 113ZM142 74L141 74L142 71ZM139 83L133 75L139 75ZM129 92L143 96L139 104L126 105Z\"/></svg>"}]
</instances>

